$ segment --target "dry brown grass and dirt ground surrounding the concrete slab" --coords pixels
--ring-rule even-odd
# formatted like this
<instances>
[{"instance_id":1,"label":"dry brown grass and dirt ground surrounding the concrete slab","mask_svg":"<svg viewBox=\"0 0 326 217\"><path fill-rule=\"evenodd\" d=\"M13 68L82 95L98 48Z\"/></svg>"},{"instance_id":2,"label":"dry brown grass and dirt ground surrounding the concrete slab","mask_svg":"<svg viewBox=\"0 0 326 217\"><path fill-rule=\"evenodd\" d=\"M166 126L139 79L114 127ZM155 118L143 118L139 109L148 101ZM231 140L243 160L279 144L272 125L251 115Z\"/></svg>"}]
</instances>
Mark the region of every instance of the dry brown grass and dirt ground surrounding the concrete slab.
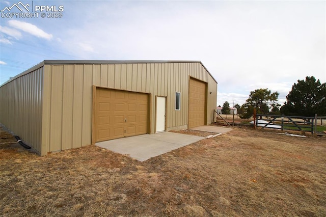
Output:
<instances>
[{"instance_id":1,"label":"dry brown grass and dirt ground surrounding the concrete slab","mask_svg":"<svg viewBox=\"0 0 326 217\"><path fill-rule=\"evenodd\" d=\"M199 131L179 131L204 135ZM234 128L144 162L0 140L1 216L326 216L326 137Z\"/></svg>"}]
</instances>

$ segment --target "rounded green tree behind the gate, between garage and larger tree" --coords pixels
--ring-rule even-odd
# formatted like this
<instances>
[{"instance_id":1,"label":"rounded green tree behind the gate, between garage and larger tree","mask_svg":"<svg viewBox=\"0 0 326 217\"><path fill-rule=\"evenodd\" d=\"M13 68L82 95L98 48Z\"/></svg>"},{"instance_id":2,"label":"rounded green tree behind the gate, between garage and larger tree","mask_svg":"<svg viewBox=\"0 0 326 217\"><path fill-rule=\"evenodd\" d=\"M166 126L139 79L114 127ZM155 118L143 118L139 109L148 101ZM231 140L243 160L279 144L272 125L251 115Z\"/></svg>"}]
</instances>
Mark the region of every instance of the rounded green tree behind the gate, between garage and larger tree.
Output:
<instances>
[{"instance_id":1,"label":"rounded green tree behind the gate, between garage and larger tree","mask_svg":"<svg viewBox=\"0 0 326 217\"><path fill-rule=\"evenodd\" d=\"M252 117L254 114L254 108L256 108L256 114L269 114L271 107L276 111L280 106L277 102L278 97L278 92L271 93L267 88L260 88L251 91L246 103L244 103L240 108L242 112L240 118L248 119Z\"/></svg>"}]
</instances>

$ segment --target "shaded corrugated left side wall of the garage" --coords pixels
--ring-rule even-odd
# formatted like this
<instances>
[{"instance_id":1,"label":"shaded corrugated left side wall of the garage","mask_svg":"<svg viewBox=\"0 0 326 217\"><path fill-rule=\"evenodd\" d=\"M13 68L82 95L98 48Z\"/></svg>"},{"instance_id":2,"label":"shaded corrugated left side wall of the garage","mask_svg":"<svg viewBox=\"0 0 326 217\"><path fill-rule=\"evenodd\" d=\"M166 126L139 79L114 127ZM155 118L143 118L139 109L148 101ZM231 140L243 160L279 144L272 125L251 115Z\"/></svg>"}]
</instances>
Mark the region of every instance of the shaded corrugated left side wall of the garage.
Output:
<instances>
[{"instance_id":1,"label":"shaded corrugated left side wall of the garage","mask_svg":"<svg viewBox=\"0 0 326 217\"><path fill-rule=\"evenodd\" d=\"M41 150L43 67L0 87L0 123Z\"/></svg>"}]
</instances>

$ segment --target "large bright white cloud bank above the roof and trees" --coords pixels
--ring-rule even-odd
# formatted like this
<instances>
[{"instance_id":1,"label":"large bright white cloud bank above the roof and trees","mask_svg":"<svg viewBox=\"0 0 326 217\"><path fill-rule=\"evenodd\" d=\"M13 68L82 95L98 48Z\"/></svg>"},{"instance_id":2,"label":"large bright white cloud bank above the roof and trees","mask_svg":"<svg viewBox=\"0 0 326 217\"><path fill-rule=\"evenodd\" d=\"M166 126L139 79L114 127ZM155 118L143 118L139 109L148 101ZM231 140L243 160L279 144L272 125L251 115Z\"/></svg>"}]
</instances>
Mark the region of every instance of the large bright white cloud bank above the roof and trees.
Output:
<instances>
[{"instance_id":1,"label":"large bright white cloud bank above the roof and trees","mask_svg":"<svg viewBox=\"0 0 326 217\"><path fill-rule=\"evenodd\" d=\"M101 2L88 7L92 13L67 29L64 49L83 59L200 60L219 83L221 105L242 104L259 88L278 91L282 104L297 79L314 75L326 82L324 3Z\"/></svg>"}]
</instances>

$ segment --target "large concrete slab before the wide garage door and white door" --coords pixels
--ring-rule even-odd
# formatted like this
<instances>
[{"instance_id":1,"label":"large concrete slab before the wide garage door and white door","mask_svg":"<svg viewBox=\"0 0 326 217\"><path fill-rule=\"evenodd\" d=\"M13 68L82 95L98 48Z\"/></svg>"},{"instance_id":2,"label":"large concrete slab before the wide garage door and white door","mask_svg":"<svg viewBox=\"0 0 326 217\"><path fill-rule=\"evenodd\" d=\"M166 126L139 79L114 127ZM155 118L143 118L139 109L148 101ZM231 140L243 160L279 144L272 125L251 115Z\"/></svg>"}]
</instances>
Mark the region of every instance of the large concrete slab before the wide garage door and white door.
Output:
<instances>
[{"instance_id":1,"label":"large concrete slab before the wide garage door and white door","mask_svg":"<svg viewBox=\"0 0 326 217\"><path fill-rule=\"evenodd\" d=\"M205 137L174 132L160 132L109 140L96 143L95 145L120 154L127 154L139 161L145 161L151 157L167 153L203 139Z\"/></svg>"}]
</instances>

